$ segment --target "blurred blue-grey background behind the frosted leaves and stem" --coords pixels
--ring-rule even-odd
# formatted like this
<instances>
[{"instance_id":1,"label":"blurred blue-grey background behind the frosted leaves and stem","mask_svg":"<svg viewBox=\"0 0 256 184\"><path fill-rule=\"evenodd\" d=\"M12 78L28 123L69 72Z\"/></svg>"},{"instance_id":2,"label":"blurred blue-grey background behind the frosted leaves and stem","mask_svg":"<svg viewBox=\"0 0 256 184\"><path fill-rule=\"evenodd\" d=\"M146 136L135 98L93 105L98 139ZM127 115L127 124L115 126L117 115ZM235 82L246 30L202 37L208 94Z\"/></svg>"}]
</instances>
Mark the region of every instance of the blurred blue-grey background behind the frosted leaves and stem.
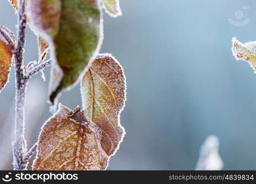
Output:
<instances>
[{"instance_id":1,"label":"blurred blue-grey background behind the frosted leaves and stem","mask_svg":"<svg viewBox=\"0 0 256 184\"><path fill-rule=\"evenodd\" d=\"M122 17L104 13L101 53L112 53L126 73L128 100L121 123L127 134L108 169L195 169L209 134L220 139L223 169L256 169L256 75L231 53L232 37L256 40L256 2L121 0L120 4ZM0 25L15 32L16 18L9 2L1 0ZM250 22L235 26L228 18ZM26 61L34 59L36 36L28 29ZM46 103L48 73L46 69L46 82L40 74L29 82L29 147L51 115ZM0 169L12 168L14 94L12 69L0 95ZM79 86L64 93L60 102L71 109L80 105Z\"/></svg>"}]
</instances>

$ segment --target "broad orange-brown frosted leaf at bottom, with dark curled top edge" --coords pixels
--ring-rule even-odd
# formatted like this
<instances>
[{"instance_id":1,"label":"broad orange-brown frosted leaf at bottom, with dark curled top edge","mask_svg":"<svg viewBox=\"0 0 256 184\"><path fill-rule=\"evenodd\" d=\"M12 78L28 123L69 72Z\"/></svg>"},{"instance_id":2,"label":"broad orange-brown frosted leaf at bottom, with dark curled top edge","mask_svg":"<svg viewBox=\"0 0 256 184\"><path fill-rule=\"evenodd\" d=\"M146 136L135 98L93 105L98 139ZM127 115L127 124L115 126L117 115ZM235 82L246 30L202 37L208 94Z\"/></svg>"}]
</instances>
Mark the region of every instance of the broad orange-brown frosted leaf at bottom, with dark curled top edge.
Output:
<instances>
[{"instance_id":1,"label":"broad orange-brown frosted leaf at bottom, with dark curled top edge","mask_svg":"<svg viewBox=\"0 0 256 184\"><path fill-rule=\"evenodd\" d=\"M109 157L100 145L101 131L79 108L59 105L39 136L33 170L104 170Z\"/></svg>"}]
</instances>

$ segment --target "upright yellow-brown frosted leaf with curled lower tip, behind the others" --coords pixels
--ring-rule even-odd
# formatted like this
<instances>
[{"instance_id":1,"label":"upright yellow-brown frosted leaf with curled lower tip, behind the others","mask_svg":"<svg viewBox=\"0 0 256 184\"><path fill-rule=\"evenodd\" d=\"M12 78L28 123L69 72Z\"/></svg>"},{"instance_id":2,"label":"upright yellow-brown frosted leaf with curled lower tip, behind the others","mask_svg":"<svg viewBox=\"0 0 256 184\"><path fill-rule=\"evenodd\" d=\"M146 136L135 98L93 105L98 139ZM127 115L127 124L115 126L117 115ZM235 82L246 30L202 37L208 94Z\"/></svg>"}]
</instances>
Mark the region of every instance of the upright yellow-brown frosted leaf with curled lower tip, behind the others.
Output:
<instances>
[{"instance_id":1,"label":"upright yellow-brown frosted leaf with curled lower tip, behind the others","mask_svg":"<svg viewBox=\"0 0 256 184\"><path fill-rule=\"evenodd\" d=\"M125 90L123 69L111 55L97 56L82 79L83 109L89 120L101 128L101 145L107 155L115 153L125 134L120 125Z\"/></svg>"}]
</instances>

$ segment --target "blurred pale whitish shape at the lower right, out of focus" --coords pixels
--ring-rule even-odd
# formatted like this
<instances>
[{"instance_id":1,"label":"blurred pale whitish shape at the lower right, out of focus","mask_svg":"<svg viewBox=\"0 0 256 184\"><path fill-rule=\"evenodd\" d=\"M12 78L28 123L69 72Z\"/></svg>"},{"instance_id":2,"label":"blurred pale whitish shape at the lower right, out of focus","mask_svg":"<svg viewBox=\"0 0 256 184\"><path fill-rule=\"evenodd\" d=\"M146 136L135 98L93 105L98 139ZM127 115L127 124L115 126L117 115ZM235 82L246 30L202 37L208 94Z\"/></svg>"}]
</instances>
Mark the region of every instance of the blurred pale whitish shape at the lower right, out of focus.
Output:
<instances>
[{"instance_id":1,"label":"blurred pale whitish shape at the lower right, out of focus","mask_svg":"<svg viewBox=\"0 0 256 184\"><path fill-rule=\"evenodd\" d=\"M209 136L200 150L200 158L196 170L221 170L222 159L219 155L219 139L216 136Z\"/></svg>"}]
</instances>

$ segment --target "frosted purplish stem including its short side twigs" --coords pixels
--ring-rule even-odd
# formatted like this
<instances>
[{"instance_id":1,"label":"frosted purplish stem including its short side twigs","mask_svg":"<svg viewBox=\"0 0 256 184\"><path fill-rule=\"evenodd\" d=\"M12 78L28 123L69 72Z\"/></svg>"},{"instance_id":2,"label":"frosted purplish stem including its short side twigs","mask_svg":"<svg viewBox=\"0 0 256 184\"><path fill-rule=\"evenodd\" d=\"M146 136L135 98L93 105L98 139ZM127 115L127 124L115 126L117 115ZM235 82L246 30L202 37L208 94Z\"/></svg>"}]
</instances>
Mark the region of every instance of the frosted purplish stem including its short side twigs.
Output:
<instances>
[{"instance_id":1,"label":"frosted purplish stem including its short side twigs","mask_svg":"<svg viewBox=\"0 0 256 184\"><path fill-rule=\"evenodd\" d=\"M28 74L24 71L24 45L26 36L26 13L25 13L26 0L18 0L18 38L17 44L14 49L15 61L15 132L13 142L13 156L14 156L14 170L24 170L28 166L29 158L36 151L37 144L35 144L28 152L25 140L25 99L26 99L26 86L28 80L38 72L42 71L45 67L50 66L52 61L49 59L34 67ZM14 44L14 36L12 33L3 28L1 34L4 35L7 42ZM1 28L0 28L1 31ZM8 36L7 34L10 34Z\"/></svg>"}]
</instances>

